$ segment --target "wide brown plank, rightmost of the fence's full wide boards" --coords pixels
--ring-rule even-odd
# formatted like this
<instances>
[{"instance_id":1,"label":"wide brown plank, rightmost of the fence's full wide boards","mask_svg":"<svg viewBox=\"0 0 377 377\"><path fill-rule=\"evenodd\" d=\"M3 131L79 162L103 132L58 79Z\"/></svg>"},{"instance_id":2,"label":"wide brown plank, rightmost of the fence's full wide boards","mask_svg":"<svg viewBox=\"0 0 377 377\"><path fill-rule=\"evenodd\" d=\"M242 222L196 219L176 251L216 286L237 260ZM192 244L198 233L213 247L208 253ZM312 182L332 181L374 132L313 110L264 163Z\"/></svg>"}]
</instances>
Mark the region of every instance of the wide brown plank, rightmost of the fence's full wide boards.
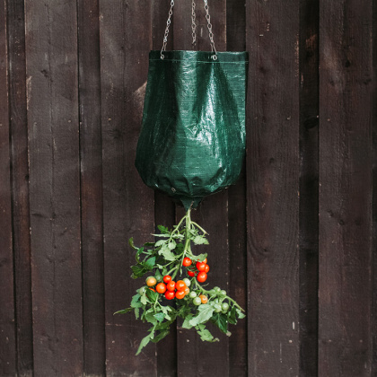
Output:
<instances>
[{"instance_id":1,"label":"wide brown plank, rightmost of the fence's full wide boards","mask_svg":"<svg viewBox=\"0 0 377 377\"><path fill-rule=\"evenodd\" d=\"M320 1L320 375L371 375L372 22Z\"/></svg>"}]
</instances>

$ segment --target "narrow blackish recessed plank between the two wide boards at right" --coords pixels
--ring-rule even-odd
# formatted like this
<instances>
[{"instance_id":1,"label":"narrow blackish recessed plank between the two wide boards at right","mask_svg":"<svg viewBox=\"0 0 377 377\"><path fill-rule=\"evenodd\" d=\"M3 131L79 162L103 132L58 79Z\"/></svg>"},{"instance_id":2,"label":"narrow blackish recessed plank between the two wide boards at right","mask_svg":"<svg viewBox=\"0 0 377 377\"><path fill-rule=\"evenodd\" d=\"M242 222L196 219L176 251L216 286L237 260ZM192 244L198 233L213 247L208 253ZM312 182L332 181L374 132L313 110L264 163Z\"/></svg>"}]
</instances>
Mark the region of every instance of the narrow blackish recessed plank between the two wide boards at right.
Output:
<instances>
[{"instance_id":1,"label":"narrow blackish recessed plank between the two wide boards at right","mask_svg":"<svg viewBox=\"0 0 377 377\"><path fill-rule=\"evenodd\" d=\"M318 365L319 2L300 4L300 373Z\"/></svg>"}]
</instances>

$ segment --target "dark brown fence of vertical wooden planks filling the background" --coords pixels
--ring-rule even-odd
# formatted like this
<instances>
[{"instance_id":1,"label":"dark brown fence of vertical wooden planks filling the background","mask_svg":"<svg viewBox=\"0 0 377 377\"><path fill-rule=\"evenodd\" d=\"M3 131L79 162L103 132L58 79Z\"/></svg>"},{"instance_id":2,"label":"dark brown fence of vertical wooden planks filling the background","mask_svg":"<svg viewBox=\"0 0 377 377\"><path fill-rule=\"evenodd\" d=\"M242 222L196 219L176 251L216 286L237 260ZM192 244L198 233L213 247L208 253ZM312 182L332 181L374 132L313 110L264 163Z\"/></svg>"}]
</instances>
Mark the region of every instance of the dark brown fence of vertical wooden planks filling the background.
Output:
<instances>
[{"instance_id":1,"label":"dark brown fence of vertical wooden planks filling the background","mask_svg":"<svg viewBox=\"0 0 377 377\"><path fill-rule=\"evenodd\" d=\"M1 376L377 375L377 2L209 6L217 48L250 52L247 158L194 216L247 319L135 356L145 325L113 315L139 285L127 239L182 215L134 167L170 1L2 0ZM169 49L191 48L190 12Z\"/></svg>"}]
</instances>

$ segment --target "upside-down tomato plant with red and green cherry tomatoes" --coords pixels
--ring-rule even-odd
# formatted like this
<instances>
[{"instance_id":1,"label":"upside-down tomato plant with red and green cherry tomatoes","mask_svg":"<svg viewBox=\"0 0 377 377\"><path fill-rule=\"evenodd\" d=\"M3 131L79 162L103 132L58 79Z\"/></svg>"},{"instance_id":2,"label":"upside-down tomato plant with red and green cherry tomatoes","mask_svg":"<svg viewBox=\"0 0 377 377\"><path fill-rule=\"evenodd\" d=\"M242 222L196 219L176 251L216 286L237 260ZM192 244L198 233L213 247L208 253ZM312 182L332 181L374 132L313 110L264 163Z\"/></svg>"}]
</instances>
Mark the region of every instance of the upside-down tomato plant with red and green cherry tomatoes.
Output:
<instances>
[{"instance_id":1,"label":"upside-down tomato plant with red and green cherry tomatoes","mask_svg":"<svg viewBox=\"0 0 377 377\"><path fill-rule=\"evenodd\" d=\"M166 337L177 318L183 320L182 328L196 329L202 340L215 342L219 339L206 329L208 321L229 336L228 325L235 325L237 320L245 317L240 305L220 287L207 289L202 285L209 272L207 256L206 253L194 254L192 245L207 245L207 233L191 220L190 213L189 209L171 230L159 225L160 233L153 234L156 237L154 242L146 242L138 248L132 239L129 241L136 250L132 277L149 275L145 279L146 286L136 290L130 307L117 311L135 311L136 320L151 325L136 355L150 341L158 342ZM170 304L172 300L174 304Z\"/></svg>"}]
</instances>

